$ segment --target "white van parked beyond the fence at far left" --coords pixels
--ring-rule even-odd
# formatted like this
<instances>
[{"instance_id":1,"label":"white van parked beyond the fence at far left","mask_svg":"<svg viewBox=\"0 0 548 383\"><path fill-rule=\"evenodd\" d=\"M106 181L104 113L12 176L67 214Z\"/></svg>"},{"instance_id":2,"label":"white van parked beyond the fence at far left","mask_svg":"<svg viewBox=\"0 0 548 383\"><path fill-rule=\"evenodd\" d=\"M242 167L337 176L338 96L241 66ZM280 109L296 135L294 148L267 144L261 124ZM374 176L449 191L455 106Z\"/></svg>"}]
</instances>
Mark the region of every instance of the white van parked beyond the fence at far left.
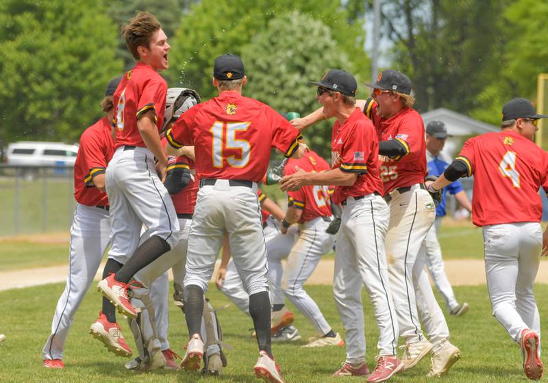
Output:
<instances>
[{"instance_id":1,"label":"white van parked beyond the fence at far left","mask_svg":"<svg viewBox=\"0 0 548 383\"><path fill-rule=\"evenodd\" d=\"M74 166L77 145L20 141L8 145L5 161L13 166Z\"/></svg>"}]
</instances>

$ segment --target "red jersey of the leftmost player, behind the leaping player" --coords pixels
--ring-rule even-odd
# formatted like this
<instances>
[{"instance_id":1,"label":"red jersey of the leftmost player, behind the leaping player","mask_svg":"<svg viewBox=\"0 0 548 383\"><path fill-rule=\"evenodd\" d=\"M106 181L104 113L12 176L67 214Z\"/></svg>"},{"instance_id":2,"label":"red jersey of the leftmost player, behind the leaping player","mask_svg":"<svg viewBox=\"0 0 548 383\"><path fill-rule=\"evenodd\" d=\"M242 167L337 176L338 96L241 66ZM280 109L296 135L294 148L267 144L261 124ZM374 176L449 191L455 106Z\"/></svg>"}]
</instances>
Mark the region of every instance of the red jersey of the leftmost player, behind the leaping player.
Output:
<instances>
[{"instance_id":1,"label":"red jersey of the leftmost player, behind the leaping player","mask_svg":"<svg viewBox=\"0 0 548 383\"><path fill-rule=\"evenodd\" d=\"M92 124L82 133L80 146L74 163L74 198L86 206L108 206L105 192L100 192L93 183L93 177L103 174L114 155L112 125L108 118Z\"/></svg>"}]
</instances>

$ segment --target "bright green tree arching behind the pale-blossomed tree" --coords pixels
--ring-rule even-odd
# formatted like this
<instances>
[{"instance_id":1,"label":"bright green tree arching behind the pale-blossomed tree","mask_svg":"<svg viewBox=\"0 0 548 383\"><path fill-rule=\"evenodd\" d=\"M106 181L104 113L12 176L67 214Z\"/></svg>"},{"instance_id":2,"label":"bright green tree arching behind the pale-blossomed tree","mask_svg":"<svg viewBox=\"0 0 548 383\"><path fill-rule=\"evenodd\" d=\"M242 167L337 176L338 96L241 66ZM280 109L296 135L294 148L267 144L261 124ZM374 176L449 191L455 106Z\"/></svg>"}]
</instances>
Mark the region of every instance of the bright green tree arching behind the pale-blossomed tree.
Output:
<instances>
[{"instance_id":1,"label":"bright green tree arching behind the pale-blossomed tree","mask_svg":"<svg viewBox=\"0 0 548 383\"><path fill-rule=\"evenodd\" d=\"M236 3L203 0L192 5L175 32L166 75L178 79L184 86L195 88L203 98L213 96L214 58L224 53L241 55L253 36L266 31L271 19L292 11L307 14L327 25L354 70L369 73L369 60L363 49L362 19L357 6L349 13L338 1L332 0L240 0ZM281 33L286 34L285 31ZM262 52L255 54L262 55Z\"/></svg>"}]
</instances>

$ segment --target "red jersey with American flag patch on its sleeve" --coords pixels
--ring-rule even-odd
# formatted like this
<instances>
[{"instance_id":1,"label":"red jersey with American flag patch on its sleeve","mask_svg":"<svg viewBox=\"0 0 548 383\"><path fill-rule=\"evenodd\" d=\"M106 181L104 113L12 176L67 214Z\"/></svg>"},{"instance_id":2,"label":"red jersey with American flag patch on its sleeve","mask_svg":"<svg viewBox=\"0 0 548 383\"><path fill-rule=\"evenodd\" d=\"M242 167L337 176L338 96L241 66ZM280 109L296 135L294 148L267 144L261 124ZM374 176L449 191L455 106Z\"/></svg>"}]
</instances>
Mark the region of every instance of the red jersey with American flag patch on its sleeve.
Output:
<instances>
[{"instance_id":1,"label":"red jersey with American flag patch on its sleeve","mask_svg":"<svg viewBox=\"0 0 548 383\"><path fill-rule=\"evenodd\" d=\"M375 127L359 108L347 120L333 126L331 135L332 169L356 172L358 179L351 186L335 186L332 200L340 204L348 197L377 192L382 194L379 177L379 141ZM331 215L331 214L329 214Z\"/></svg>"}]
</instances>

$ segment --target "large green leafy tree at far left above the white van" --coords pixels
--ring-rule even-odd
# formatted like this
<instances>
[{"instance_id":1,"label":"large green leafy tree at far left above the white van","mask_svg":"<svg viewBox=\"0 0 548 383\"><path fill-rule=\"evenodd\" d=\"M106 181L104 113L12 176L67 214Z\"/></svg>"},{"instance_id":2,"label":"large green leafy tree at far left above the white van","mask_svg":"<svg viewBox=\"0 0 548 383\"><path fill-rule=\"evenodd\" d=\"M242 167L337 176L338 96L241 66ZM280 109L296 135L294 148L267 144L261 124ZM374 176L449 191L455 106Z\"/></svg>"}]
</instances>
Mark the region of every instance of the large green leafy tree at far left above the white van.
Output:
<instances>
[{"instance_id":1,"label":"large green leafy tree at far left above the white van","mask_svg":"<svg viewBox=\"0 0 548 383\"><path fill-rule=\"evenodd\" d=\"M121 74L116 28L85 0L1 1L0 44L0 141L74 142Z\"/></svg>"}]
</instances>

